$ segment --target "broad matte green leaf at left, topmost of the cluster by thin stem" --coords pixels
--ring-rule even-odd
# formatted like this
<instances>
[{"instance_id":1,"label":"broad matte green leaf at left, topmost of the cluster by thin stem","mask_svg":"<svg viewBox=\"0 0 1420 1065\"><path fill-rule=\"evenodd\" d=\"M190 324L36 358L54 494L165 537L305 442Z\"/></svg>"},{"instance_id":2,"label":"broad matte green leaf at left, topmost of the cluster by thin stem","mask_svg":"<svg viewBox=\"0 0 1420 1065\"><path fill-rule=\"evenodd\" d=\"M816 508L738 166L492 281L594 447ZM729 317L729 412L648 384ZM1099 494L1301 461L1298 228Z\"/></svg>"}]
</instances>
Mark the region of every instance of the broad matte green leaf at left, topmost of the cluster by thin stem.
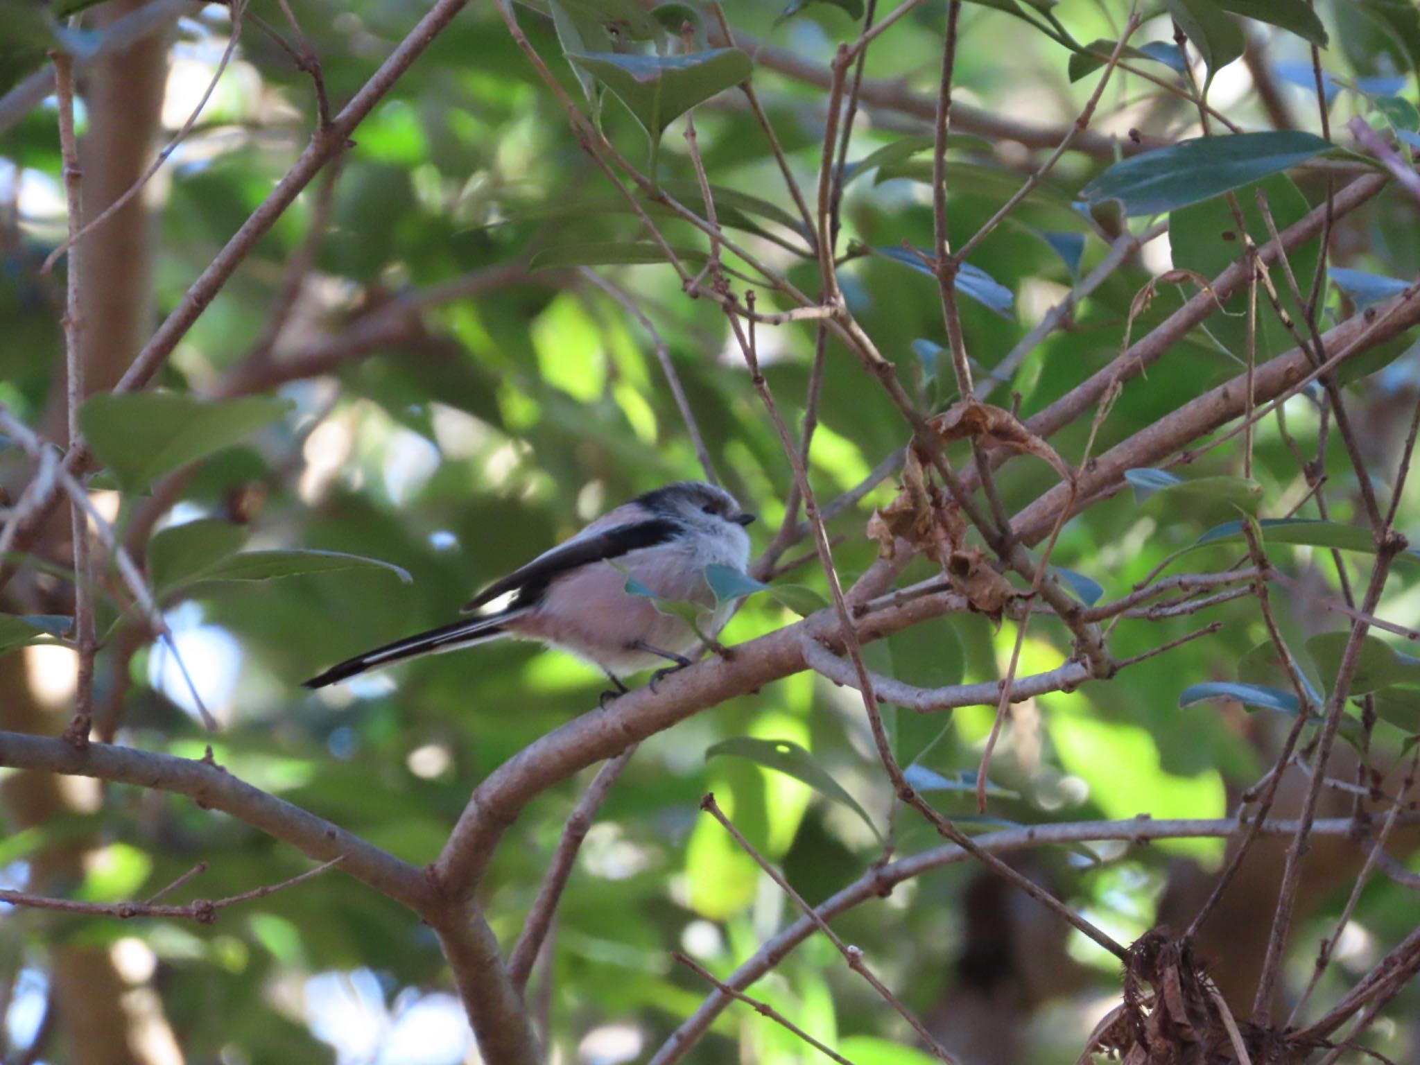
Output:
<instances>
[{"instance_id":1,"label":"broad matte green leaf at left, topmost of the cluster by thin stem","mask_svg":"<svg viewBox=\"0 0 1420 1065\"><path fill-rule=\"evenodd\" d=\"M199 400L176 392L102 392L80 408L94 453L126 491L231 447L291 410L285 399Z\"/></svg>"}]
</instances>

